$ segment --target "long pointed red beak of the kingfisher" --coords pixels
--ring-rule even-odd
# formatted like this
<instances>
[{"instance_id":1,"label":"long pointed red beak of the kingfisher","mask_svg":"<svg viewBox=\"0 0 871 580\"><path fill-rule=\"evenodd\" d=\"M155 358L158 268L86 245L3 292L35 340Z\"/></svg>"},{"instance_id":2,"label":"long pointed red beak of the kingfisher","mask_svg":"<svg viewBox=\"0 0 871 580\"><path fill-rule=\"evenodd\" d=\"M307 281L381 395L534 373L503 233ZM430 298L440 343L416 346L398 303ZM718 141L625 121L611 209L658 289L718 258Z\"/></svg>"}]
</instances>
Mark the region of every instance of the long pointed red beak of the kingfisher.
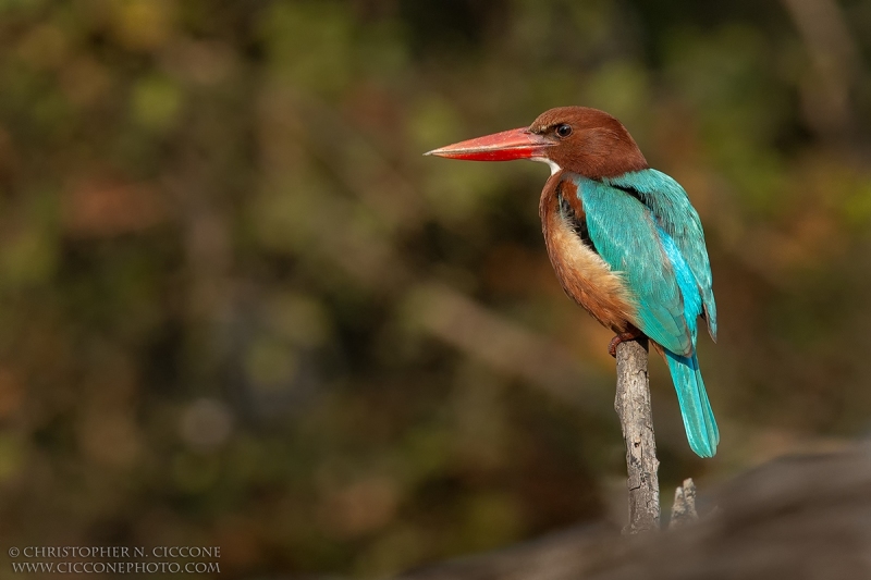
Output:
<instances>
[{"instance_id":1,"label":"long pointed red beak of the kingfisher","mask_svg":"<svg viewBox=\"0 0 871 580\"><path fill-rule=\"evenodd\" d=\"M467 161L511 161L544 157L544 149L552 145L556 144L523 127L449 145L424 155Z\"/></svg>"}]
</instances>

